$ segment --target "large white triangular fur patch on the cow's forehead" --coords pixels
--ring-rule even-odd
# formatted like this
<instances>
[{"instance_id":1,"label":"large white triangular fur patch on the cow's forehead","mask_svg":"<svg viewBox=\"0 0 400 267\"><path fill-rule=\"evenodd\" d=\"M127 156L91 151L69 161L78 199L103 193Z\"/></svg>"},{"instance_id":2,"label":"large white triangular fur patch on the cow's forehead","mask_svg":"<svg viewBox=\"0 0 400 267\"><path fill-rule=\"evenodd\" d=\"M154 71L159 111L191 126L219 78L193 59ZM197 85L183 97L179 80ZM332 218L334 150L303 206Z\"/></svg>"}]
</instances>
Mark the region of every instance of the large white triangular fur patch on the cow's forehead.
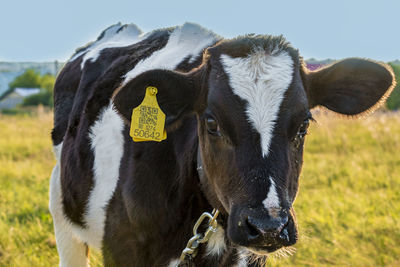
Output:
<instances>
[{"instance_id":1,"label":"large white triangular fur patch on the cow's forehead","mask_svg":"<svg viewBox=\"0 0 400 267\"><path fill-rule=\"evenodd\" d=\"M293 59L286 51L262 49L246 58L221 55L233 92L247 101L247 116L260 133L262 156L267 157L276 119L292 81Z\"/></svg>"}]
</instances>

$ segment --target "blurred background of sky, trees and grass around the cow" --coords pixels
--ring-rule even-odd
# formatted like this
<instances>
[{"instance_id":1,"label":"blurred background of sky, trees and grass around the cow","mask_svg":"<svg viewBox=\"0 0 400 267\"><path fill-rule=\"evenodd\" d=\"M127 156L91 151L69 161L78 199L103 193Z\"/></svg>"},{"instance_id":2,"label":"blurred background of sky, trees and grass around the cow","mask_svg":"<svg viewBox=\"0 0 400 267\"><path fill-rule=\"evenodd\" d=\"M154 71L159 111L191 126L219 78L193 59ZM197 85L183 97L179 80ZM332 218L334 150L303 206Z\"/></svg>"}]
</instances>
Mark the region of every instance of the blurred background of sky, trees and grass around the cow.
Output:
<instances>
[{"instance_id":1,"label":"blurred background of sky, trees and grass around the cow","mask_svg":"<svg viewBox=\"0 0 400 267\"><path fill-rule=\"evenodd\" d=\"M48 183L53 86L75 49L117 22L195 22L232 38L284 35L311 70L345 57L400 81L400 1L14 0L0 10L0 266L58 262ZM399 82L400 84L400 82ZM358 120L314 110L295 203L300 240L269 266L400 266L400 85ZM293 255L288 255L293 254ZM94 266L101 256L93 253Z\"/></svg>"}]
</instances>

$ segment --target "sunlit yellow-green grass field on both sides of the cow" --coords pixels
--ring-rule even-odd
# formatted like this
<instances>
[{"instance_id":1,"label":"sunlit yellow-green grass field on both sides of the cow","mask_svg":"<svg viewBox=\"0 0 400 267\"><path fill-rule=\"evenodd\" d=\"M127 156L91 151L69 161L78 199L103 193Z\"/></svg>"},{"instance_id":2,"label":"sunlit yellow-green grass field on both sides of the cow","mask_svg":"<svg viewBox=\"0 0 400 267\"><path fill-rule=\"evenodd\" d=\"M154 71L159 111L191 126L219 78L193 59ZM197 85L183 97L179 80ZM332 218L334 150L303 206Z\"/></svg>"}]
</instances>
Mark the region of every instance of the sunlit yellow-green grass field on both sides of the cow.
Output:
<instances>
[{"instance_id":1,"label":"sunlit yellow-green grass field on both sides of the cow","mask_svg":"<svg viewBox=\"0 0 400 267\"><path fill-rule=\"evenodd\" d=\"M268 265L400 266L400 114L316 119L295 203L297 252ZM47 208L51 124L46 112L0 115L0 266L58 262Z\"/></svg>"}]
</instances>

